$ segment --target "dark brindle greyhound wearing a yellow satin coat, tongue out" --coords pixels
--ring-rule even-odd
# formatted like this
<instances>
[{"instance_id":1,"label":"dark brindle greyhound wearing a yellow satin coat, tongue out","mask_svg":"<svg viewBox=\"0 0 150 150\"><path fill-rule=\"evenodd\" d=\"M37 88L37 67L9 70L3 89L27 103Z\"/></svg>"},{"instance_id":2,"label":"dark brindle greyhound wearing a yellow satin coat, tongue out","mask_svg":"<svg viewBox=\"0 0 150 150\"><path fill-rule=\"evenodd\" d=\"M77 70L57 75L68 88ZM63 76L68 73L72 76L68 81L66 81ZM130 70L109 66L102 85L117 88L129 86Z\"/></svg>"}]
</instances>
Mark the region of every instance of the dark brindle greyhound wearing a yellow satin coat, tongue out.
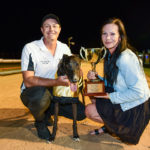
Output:
<instances>
[{"instance_id":1,"label":"dark brindle greyhound wearing a yellow satin coat, tongue out","mask_svg":"<svg viewBox=\"0 0 150 150\"><path fill-rule=\"evenodd\" d=\"M59 86L53 88L53 94L54 98L53 101L55 102L55 108L54 108L54 124L53 124L53 132L52 136L50 138L50 141L54 141L57 131L57 121L58 121L58 113L59 113L59 103L70 103L72 104L73 109L73 139L75 141L79 141L79 135L77 132L77 102L78 102L78 94L81 92L83 104L85 104L84 96L82 93L83 88L83 75L81 71L81 60L79 57L72 55L67 56L64 55L61 59L59 65L58 65L58 71L57 76L61 75L67 75L68 79L70 81L70 87L65 86ZM78 84L78 86L77 86ZM60 92L60 89L63 90L63 93L65 93L65 88L68 90L72 90L70 95L67 96L60 96L57 95ZM70 91L69 91L70 92ZM68 91L66 93L69 93ZM57 95L57 96L55 96ZM59 96L59 97L58 97ZM72 97L73 96L73 97ZM63 98L62 98L63 97Z\"/></svg>"}]
</instances>

